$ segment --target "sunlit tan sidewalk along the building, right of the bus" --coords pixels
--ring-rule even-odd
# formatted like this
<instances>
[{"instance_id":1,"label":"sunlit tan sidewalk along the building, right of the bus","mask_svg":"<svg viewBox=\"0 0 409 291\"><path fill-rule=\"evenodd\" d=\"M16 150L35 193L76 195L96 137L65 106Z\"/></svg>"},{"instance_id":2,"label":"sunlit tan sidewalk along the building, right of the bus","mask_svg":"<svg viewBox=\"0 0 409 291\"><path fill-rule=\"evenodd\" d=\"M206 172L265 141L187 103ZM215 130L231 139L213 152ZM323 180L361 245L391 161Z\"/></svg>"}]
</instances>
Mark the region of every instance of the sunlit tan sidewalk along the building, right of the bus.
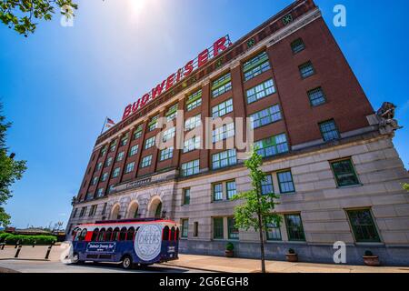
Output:
<instances>
[{"instance_id":1,"label":"sunlit tan sidewalk along the building, right of the bus","mask_svg":"<svg viewBox=\"0 0 409 291\"><path fill-rule=\"evenodd\" d=\"M179 255L179 260L168 262L166 265L224 273L261 272L259 260L221 256ZM409 273L409 266L371 267L265 261L265 267L268 273Z\"/></svg>"}]
</instances>

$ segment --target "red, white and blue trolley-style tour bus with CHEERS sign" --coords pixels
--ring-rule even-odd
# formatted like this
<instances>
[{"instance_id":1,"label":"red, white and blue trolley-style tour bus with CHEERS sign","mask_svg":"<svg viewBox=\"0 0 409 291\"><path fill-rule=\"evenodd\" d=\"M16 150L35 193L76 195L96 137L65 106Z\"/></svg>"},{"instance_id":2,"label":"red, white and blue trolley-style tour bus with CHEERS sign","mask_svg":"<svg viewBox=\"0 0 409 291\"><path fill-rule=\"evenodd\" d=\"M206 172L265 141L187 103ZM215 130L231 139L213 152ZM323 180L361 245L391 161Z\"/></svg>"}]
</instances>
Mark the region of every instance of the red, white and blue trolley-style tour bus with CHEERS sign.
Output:
<instances>
[{"instance_id":1,"label":"red, white and blue trolley-style tour bus with CHEERS sign","mask_svg":"<svg viewBox=\"0 0 409 291\"><path fill-rule=\"evenodd\" d=\"M178 258L179 226L155 218L75 226L72 262L121 263L125 269Z\"/></svg>"}]
</instances>

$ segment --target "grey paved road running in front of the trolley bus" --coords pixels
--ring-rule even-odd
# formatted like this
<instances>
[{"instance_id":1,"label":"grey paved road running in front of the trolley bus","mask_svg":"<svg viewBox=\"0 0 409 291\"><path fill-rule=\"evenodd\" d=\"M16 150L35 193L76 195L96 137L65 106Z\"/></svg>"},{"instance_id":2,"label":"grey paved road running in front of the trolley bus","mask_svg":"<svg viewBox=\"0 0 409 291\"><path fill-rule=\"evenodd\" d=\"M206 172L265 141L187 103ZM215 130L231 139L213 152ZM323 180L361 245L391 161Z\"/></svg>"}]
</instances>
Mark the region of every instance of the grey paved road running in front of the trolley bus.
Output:
<instances>
[{"instance_id":1,"label":"grey paved road running in front of the trolley bus","mask_svg":"<svg viewBox=\"0 0 409 291\"><path fill-rule=\"evenodd\" d=\"M61 262L29 260L0 260L0 269L2 267L22 273L202 273L195 269L159 264L126 271L112 264L65 265Z\"/></svg>"}]
</instances>

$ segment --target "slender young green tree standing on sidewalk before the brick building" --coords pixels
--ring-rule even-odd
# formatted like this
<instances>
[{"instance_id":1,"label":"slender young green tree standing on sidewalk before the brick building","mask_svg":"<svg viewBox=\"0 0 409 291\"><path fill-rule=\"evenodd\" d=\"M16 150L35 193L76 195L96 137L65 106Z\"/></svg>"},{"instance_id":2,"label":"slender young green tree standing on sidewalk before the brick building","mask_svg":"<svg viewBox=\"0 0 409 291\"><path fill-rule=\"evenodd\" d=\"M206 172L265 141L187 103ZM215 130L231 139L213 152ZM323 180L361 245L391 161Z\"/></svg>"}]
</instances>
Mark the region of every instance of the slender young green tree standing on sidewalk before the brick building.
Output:
<instances>
[{"instance_id":1,"label":"slender young green tree standing on sidewalk before the brick building","mask_svg":"<svg viewBox=\"0 0 409 291\"><path fill-rule=\"evenodd\" d=\"M266 176L261 170L263 158L257 154L256 149L252 150L250 158L244 164L250 170L253 189L234 196L234 200L244 200L243 205L234 209L234 221L238 228L244 230L254 228L259 232L262 272L265 273L264 234L269 225L280 226L281 224L281 216L274 212L277 204L274 200L279 196L262 192L262 184Z\"/></svg>"}]
</instances>

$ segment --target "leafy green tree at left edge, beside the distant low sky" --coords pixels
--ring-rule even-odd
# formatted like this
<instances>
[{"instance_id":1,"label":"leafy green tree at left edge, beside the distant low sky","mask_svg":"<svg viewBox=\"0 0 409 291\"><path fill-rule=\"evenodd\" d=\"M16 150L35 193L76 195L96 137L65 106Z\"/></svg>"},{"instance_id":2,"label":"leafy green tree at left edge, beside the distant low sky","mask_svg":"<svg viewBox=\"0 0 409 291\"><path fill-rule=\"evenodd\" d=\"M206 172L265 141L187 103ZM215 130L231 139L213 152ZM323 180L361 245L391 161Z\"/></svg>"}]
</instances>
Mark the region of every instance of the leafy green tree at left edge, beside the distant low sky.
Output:
<instances>
[{"instance_id":1,"label":"leafy green tree at left edge, beside the distant low sky","mask_svg":"<svg viewBox=\"0 0 409 291\"><path fill-rule=\"evenodd\" d=\"M0 112L2 105L0 104ZM5 132L11 126L5 122L5 116L0 115L0 226L10 223L10 216L5 213L5 202L12 196L10 186L22 178L25 172L25 161L16 161L15 154L8 155L5 146Z\"/></svg>"}]
</instances>

